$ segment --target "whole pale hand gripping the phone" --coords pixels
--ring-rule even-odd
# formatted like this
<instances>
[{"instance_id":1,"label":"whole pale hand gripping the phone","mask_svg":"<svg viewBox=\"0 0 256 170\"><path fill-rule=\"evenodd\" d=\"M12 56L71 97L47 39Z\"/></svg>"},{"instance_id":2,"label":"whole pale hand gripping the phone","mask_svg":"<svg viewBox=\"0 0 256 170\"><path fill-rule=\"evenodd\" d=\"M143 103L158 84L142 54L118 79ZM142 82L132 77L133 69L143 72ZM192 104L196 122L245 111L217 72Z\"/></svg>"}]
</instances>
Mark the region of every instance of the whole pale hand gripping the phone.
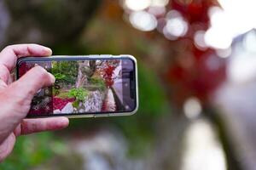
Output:
<instances>
[{"instance_id":1,"label":"whole pale hand gripping the phone","mask_svg":"<svg viewBox=\"0 0 256 170\"><path fill-rule=\"evenodd\" d=\"M20 57L51 54L49 48L37 44L11 45L0 53L0 162L12 152L18 136L68 126L67 117L25 119L33 96L40 88L55 82L53 75L40 66L33 67L15 82L10 74Z\"/></svg>"}]
</instances>

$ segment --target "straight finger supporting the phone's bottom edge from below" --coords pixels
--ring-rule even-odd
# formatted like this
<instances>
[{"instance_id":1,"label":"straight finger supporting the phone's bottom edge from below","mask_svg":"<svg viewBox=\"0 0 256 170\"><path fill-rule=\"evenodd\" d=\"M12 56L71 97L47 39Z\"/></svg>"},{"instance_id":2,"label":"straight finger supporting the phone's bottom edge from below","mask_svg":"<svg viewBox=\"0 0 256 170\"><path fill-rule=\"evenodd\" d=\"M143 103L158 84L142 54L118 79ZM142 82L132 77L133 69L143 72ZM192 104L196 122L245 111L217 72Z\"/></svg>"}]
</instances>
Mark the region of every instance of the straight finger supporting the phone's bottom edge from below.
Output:
<instances>
[{"instance_id":1,"label":"straight finger supporting the phone's bottom edge from below","mask_svg":"<svg viewBox=\"0 0 256 170\"><path fill-rule=\"evenodd\" d=\"M44 131L55 131L67 127L69 124L67 117L50 117L39 119L24 119L20 126L15 129L15 135L39 133Z\"/></svg>"}]
</instances>

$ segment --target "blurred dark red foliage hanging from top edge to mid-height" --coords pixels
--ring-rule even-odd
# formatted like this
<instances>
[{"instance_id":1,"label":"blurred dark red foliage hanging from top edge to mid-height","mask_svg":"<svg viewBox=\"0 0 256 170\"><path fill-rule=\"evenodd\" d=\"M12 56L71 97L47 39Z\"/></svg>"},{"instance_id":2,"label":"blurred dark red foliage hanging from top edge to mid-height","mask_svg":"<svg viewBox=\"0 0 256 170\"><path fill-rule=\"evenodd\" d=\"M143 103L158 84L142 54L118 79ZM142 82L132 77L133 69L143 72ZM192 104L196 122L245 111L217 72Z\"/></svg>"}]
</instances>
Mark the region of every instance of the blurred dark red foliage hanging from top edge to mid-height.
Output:
<instances>
[{"instance_id":1,"label":"blurred dark red foliage hanging from top edge to mid-height","mask_svg":"<svg viewBox=\"0 0 256 170\"><path fill-rule=\"evenodd\" d=\"M173 0L169 3L169 8L180 12L189 23L188 33L177 39L177 42L186 42L182 46L177 45L177 51L185 50L172 56L176 59L172 60L164 77L170 87L171 99L177 106L182 106L190 96L207 104L209 97L225 80L225 60L220 59L212 48L204 50L195 47L193 41L196 31L208 29L208 10L214 5L218 4L212 0Z\"/></svg>"}]
</instances>

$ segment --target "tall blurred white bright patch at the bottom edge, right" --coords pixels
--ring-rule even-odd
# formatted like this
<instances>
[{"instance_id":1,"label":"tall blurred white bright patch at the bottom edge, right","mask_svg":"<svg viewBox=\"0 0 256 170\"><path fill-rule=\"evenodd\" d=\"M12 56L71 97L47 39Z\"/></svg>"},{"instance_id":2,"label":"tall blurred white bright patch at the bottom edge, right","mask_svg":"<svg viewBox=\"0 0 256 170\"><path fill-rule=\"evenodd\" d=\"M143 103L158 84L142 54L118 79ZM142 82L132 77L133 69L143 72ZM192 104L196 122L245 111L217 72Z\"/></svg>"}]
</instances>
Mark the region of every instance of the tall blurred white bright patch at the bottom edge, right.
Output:
<instances>
[{"instance_id":1,"label":"tall blurred white bright patch at the bottom edge, right","mask_svg":"<svg viewBox=\"0 0 256 170\"><path fill-rule=\"evenodd\" d=\"M188 129L186 152L181 170L225 170L224 151L216 140L212 125L205 119L195 121Z\"/></svg>"}]
</instances>

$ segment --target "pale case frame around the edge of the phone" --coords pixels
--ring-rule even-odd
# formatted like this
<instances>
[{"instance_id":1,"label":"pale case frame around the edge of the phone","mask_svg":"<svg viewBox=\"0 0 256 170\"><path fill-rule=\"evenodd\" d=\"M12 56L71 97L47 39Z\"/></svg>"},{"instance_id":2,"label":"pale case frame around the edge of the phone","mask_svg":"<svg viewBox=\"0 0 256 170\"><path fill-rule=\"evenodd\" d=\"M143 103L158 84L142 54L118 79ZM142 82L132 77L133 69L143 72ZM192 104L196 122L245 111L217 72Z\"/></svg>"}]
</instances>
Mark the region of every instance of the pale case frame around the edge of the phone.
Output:
<instances>
[{"instance_id":1,"label":"pale case frame around the edge of the phone","mask_svg":"<svg viewBox=\"0 0 256 170\"><path fill-rule=\"evenodd\" d=\"M137 59L130 54L101 54L101 55L53 55L50 57L22 57L17 60L15 68L15 80L19 79L19 65L24 61L51 61L51 60L90 60L90 59L131 59L134 63L134 80L135 80L135 109L133 111L117 111L117 112L96 112L96 113L77 113L77 114L51 114L51 115L38 115L26 116L26 118L40 118L40 117L53 117L53 116L67 116L68 118L82 118L82 117L104 117L104 116L131 116L138 110L138 80L137 80Z\"/></svg>"}]
</instances>

